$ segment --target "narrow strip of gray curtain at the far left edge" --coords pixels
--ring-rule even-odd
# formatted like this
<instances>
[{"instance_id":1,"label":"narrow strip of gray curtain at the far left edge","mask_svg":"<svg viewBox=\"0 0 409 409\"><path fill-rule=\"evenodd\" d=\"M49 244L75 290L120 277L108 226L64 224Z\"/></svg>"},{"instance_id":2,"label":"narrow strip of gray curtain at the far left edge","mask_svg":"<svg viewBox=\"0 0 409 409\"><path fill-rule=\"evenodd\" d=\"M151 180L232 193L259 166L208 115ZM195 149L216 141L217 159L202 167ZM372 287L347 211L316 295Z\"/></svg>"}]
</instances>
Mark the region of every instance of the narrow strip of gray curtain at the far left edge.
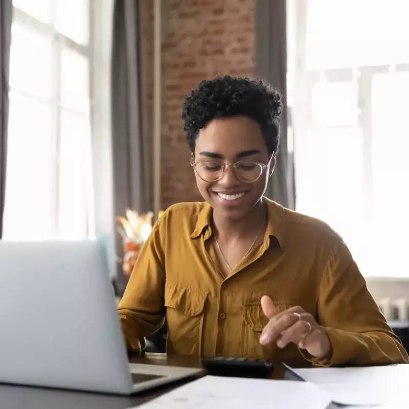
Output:
<instances>
[{"instance_id":1,"label":"narrow strip of gray curtain at the far left edge","mask_svg":"<svg viewBox=\"0 0 409 409\"><path fill-rule=\"evenodd\" d=\"M0 0L0 239L3 235L3 213L6 190L9 63L12 20L12 0Z\"/></svg>"}]
</instances>

